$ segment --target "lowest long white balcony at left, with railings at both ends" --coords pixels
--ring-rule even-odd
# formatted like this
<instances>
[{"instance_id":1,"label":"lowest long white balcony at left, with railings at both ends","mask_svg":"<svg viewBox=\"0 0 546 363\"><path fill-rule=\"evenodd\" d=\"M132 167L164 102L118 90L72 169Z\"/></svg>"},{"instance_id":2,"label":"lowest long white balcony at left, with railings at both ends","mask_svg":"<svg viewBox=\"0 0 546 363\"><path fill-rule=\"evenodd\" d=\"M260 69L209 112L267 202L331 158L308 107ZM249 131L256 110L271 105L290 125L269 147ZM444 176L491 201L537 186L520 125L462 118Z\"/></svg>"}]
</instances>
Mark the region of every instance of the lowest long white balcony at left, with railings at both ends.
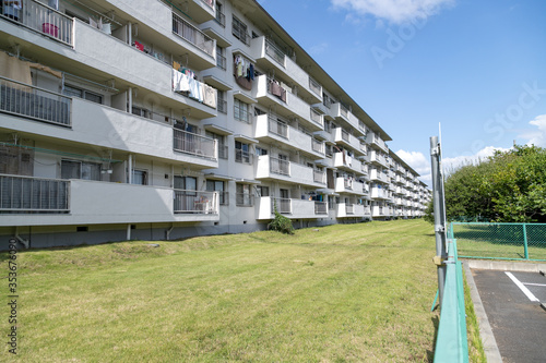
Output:
<instances>
[{"instance_id":1,"label":"lowest long white balcony at left, with railings at both ends","mask_svg":"<svg viewBox=\"0 0 546 363\"><path fill-rule=\"evenodd\" d=\"M219 220L217 192L3 174L0 187L3 227Z\"/></svg>"}]
</instances>

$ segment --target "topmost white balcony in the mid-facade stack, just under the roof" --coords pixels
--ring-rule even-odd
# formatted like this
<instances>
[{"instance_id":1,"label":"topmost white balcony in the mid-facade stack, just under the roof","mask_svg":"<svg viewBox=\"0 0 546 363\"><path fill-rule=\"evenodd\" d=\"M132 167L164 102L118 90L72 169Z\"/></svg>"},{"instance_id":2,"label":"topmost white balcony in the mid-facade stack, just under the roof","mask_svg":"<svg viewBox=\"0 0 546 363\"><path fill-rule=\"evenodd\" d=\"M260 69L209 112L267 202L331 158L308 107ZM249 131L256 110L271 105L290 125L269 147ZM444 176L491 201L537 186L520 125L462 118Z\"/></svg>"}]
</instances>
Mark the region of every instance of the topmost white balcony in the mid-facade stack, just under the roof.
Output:
<instances>
[{"instance_id":1,"label":"topmost white balcony in the mid-facade stack, just under the roof","mask_svg":"<svg viewBox=\"0 0 546 363\"><path fill-rule=\"evenodd\" d=\"M298 94L311 104L322 101L322 86L304 71L294 60L265 36L252 39L250 56L263 69L274 69L275 74L297 85Z\"/></svg>"}]
</instances>

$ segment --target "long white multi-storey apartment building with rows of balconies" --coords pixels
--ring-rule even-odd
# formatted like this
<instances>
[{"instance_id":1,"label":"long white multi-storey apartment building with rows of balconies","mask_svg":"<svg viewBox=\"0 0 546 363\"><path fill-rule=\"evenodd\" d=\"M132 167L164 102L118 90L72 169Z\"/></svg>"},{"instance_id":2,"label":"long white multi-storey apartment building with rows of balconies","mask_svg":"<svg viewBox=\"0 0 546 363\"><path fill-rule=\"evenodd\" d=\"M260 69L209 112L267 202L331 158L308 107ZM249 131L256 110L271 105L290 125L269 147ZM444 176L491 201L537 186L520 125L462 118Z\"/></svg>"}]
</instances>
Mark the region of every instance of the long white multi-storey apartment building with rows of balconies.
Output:
<instances>
[{"instance_id":1,"label":"long white multi-storey apartment building with rows of balconies","mask_svg":"<svg viewBox=\"0 0 546 363\"><path fill-rule=\"evenodd\" d=\"M391 137L254 0L0 14L0 234L33 247L414 218ZM13 2L12 2L13 3Z\"/></svg>"}]
</instances>

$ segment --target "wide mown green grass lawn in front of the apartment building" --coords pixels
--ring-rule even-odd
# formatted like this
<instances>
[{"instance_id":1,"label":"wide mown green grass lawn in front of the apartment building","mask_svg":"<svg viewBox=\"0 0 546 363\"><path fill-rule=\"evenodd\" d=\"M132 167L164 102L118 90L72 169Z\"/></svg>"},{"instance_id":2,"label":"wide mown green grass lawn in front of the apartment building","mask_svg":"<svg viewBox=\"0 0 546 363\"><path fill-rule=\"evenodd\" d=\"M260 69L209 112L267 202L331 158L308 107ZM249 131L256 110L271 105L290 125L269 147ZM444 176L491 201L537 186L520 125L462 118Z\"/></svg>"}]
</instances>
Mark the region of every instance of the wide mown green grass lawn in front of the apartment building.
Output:
<instances>
[{"instance_id":1,"label":"wide mown green grass lawn in front of the apartment building","mask_svg":"<svg viewBox=\"0 0 546 363\"><path fill-rule=\"evenodd\" d=\"M423 220L149 244L20 251L16 358L432 359L438 323L438 313L430 313L437 289L435 237ZM7 258L5 253L0 256ZM5 261L2 266L3 276ZM5 339L9 311L2 305ZM11 355L3 347L0 361Z\"/></svg>"}]
</instances>

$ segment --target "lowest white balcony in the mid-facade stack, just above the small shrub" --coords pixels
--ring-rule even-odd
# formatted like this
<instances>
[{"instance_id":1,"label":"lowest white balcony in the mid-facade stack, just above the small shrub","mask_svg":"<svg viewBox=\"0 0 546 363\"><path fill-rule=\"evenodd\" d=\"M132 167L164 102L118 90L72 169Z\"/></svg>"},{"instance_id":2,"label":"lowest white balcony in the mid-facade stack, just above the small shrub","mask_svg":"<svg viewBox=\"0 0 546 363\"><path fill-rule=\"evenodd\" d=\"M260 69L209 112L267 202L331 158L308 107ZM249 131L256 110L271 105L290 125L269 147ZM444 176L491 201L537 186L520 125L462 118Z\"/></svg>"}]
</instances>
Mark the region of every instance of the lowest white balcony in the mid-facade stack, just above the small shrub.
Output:
<instances>
[{"instance_id":1,"label":"lowest white balcony in the mid-facade stack, just above the small shrub","mask_svg":"<svg viewBox=\"0 0 546 363\"><path fill-rule=\"evenodd\" d=\"M328 216L328 202L262 196L257 204L257 219L273 219L274 208L289 219L314 219Z\"/></svg>"}]
</instances>

